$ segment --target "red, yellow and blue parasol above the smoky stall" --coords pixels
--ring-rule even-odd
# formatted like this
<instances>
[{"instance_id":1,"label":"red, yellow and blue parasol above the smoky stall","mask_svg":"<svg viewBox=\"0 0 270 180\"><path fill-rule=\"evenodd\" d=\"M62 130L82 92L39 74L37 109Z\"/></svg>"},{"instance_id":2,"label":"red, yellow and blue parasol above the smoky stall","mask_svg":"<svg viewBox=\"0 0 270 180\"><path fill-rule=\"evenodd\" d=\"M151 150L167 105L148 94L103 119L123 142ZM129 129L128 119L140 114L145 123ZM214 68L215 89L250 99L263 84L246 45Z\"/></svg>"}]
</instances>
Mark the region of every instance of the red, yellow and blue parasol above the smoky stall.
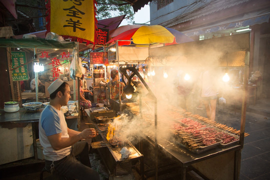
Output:
<instances>
[{"instance_id":1,"label":"red, yellow and blue parasol above the smoky stall","mask_svg":"<svg viewBox=\"0 0 270 180\"><path fill-rule=\"evenodd\" d=\"M134 44L166 43L166 45L193 41L180 31L161 25L143 25L129 29L113 37L107 43L113 43L116 40L133 40ZM130 43L130 41L118 41L118 45L129 45Z\"/></svg>"}]
</instances>

